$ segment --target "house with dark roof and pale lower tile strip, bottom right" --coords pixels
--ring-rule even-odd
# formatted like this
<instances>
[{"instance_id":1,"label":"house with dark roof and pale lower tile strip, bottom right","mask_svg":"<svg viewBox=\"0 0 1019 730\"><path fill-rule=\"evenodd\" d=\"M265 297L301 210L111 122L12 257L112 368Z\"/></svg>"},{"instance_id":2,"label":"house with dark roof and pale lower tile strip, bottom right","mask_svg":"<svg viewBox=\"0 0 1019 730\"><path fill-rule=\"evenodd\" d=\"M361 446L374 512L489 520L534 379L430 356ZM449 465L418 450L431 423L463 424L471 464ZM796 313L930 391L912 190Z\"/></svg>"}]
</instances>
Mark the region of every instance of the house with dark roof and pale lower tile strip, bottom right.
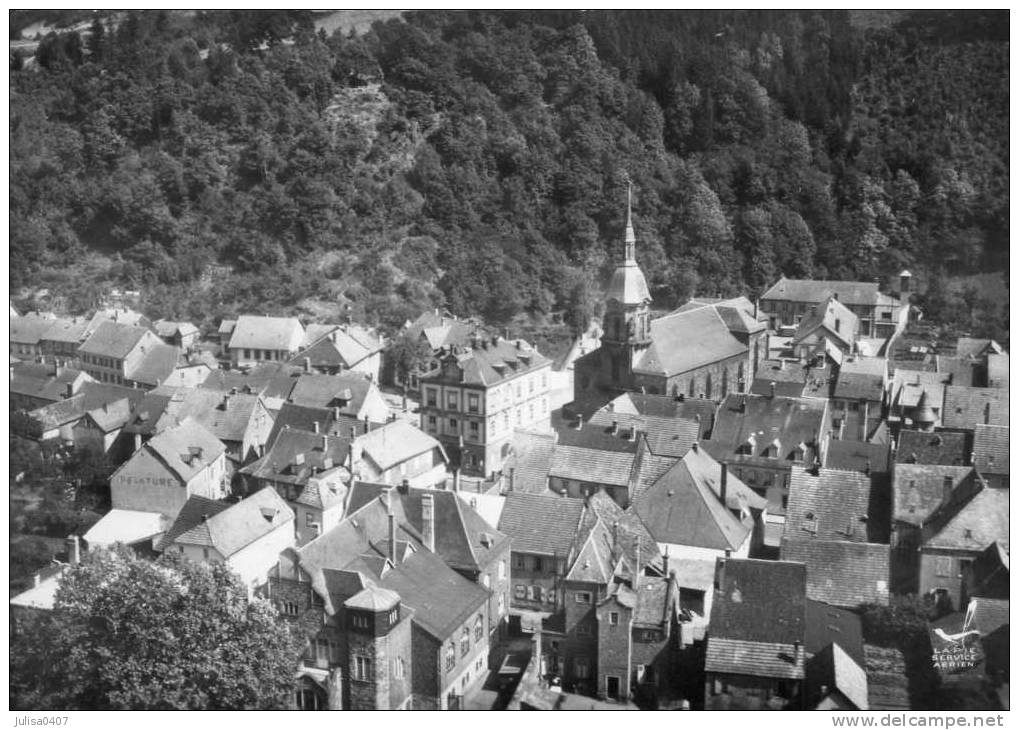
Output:
<instances>
[{"instance_id":1,"label":"house with dark roof and pale lower tile strip, bottom right","mask_svg":"<svg viewBox=\"0 0 1019 730\"><path fill-rule=\"evenodd\" d=\"M807 570L719 558L705 649L705 710L802 709Z\"/></svg>"}]
</instances>

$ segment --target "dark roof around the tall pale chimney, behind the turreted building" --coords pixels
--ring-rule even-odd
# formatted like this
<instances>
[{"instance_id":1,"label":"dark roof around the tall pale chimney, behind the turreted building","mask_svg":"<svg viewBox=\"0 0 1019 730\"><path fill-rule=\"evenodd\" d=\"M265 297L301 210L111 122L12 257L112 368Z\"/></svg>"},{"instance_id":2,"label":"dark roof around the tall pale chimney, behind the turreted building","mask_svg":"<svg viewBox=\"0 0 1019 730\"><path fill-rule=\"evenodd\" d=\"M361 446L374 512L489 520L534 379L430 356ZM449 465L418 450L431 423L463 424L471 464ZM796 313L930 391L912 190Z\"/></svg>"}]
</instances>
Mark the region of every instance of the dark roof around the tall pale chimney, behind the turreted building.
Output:
<instances>
[{"instance_id":1,"label":"dark roof around the tall pale chimney, behind the turreted building","mask_svg":"<svg viewBox=\"0 0 1019 730\"><path fill-rule=\"evenodd\" d=\"M451 568L484 570L508 539L453 491L416 487L405 489L359 481L351 489L347 512L357 512L383 492L388 493L399 522L411 525L419 535L424 534L422 504L425 499L431 498L435 553Z\"/></svg>"}]
</instances>

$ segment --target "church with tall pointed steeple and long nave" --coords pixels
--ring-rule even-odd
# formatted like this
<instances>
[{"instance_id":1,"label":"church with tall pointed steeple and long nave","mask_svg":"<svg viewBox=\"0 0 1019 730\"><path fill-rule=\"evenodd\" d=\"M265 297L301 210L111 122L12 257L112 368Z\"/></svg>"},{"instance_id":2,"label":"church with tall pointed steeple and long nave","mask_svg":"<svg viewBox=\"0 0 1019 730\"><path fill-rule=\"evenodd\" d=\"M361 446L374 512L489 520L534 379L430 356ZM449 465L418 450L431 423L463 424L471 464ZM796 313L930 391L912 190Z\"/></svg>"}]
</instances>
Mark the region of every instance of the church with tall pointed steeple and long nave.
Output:
<instances>
[{"instance_id":1,"label":"church with tall pointed steeple and long nave","mask_svg":"<svg viewBox=\"0 0 1019 730\"><path fill-rule=\"evenodd\" d=\"M575 402L625 390L717 401L744 389L766 357L756 308L746 298L692 301L652 319L629 204L623 243L605 292L601 345L574 363Z\"/></svg>"}]
</instances>

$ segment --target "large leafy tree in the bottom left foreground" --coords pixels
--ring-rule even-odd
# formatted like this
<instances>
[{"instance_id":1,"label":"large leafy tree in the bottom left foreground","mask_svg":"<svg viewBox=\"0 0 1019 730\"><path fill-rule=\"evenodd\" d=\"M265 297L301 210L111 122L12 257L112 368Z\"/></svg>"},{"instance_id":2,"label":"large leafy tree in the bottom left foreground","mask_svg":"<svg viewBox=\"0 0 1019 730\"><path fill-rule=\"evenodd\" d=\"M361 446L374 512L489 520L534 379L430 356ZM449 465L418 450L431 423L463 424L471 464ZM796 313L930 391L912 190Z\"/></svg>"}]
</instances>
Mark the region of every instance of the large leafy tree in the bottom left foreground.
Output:
<instances>
[{"instance_id":1,"label":"large leafy tree in the bottom left foreground","mask_svg":"<svg viewBox=\"0 0 1019 730\"><path fill-rule=\"evenodd\" d=\"M224 566L101 550L12 638L11 707L283 709L300 650Z\"/></svg>"}]
</instances>

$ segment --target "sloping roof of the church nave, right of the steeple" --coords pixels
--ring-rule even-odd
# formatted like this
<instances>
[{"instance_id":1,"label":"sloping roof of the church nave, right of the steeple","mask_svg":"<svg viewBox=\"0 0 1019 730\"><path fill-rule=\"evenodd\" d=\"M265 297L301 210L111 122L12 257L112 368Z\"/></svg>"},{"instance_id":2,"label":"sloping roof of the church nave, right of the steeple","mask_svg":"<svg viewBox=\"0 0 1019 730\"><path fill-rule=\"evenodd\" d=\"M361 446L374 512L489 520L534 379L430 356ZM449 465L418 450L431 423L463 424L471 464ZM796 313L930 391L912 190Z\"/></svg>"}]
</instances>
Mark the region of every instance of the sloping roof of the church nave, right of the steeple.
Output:
<instances>
[{"instance_id":1,"label":"sloping roof of the church nave, right of the steeple","mask_svg":"<svg viewBox=\"0 0 1019 730\"><path fill-rule=\"evenodd\" d=\"M747 352L715 307L701 307L651 320L653 344L634 372L672 377ZM690 343L697 347L690 347Z\"/></svg>"}]
</instances>

